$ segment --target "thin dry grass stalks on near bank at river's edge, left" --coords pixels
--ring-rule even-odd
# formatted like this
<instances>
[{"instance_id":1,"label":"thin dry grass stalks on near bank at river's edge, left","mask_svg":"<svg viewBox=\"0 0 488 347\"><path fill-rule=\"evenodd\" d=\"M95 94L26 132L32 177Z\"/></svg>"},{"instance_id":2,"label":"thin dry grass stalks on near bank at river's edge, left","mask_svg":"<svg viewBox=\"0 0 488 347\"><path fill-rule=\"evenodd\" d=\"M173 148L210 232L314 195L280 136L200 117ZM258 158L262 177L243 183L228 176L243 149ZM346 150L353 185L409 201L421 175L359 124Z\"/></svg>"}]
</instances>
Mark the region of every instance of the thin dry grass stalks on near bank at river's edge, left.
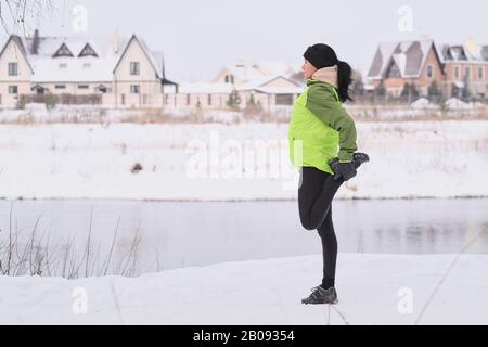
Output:
<instances>
[{"instance_id":1,"label":"thin dry grass stalks on near bank at river's edge, left","mask_svg":"<svg viewBox=\"0 0 488 347\"><path fill-rule=\"evenodd\" d=\"M139 246L142 241L139 228L130 241L129 249L117 259L113 253L118 243L118 230L120 218L113 235L106 256L101 254L101 245L92 241L92 219L90 216L90 228L88 236L80 250L73 237L66 243L52 245L50 233L39 234L39 216L29 234L24 237L23 232L13 229L13 203L10 209L9 235L0 241L0 274L3 275L48 275L76 279L81 277L100 275L139 275ZM21 239L24 241L22 242ZM26 241L25 241L26 240Z\"/></svg>"}]
</instances>

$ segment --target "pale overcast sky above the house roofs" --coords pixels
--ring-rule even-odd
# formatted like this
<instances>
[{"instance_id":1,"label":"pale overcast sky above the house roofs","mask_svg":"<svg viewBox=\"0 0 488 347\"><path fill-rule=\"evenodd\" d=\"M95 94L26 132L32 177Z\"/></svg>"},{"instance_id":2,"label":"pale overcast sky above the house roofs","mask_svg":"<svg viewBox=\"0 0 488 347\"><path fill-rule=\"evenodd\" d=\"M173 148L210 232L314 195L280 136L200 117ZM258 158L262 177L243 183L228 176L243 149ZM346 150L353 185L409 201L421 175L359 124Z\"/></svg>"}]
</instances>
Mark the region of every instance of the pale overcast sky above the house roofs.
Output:
<instances>
[{"instance_id":1,"label":"pale overcast sky above the house roofs","mask_svg":"<svg viewBox=\"0 0 488 347\"><path fill-rule=\"evenodd\" d=\"M282 61L300 66L309 44L323 42L364 73L380 42L418 39L488 44L487 0L53 0L55 9L26 18L41 35L80 35L72 10L88 10L82 35L142 37L166 57L177 81L211 80L236 59ZM401 7L411 9L411 18ZM411 23L411 31L398 23ZM3 39L3 36L2 36Z\"/></svg>"}]
</instances>

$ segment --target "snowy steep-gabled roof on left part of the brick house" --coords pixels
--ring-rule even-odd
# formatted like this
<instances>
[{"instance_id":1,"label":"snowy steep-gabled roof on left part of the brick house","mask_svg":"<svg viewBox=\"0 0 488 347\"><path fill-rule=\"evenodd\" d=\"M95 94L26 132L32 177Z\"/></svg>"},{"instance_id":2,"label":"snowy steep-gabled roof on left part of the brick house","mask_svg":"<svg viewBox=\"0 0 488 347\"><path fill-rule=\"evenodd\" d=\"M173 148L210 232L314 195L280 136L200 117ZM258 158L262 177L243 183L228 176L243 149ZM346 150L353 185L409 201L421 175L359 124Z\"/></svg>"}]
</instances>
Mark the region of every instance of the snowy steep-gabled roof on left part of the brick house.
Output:
<instances>
[{"instance_id":1,"label":"snowy steep-gabled roof on left part of the brick house","mask_svg":"<svg viewBox=\"0 0 488 347\"><path fill-rule=\"evenodd\" d=\"M381 43L368 73L368 78L381 79L395 65L400 77L419 77L434 41L431 39Z\"/></svg>"}]
</instances>

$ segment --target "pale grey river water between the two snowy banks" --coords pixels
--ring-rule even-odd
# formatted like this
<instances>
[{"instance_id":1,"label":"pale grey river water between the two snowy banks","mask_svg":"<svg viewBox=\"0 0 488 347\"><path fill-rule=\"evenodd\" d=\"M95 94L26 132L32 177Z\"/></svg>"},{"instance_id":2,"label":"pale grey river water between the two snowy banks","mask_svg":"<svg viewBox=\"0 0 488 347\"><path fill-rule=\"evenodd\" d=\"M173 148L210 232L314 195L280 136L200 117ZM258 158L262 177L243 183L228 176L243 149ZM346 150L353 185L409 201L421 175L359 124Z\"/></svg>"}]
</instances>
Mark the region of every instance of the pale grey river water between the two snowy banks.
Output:
<instances>
[{"instance_id":1,"label":"pale grey river water between the two snowy banks","mask_svg":"<svg viewBox=\"0 0 488 347\"><path fill-rule=\"evenodd\" d=\"M70 235L80 245L107 248L120 218L114 253L142 235L143 271L203 266L229 260L318 254L316 231L301 228L296 202L0 202L0 240L10 228L52 244ZM335 201L333 219L344 253L442 254L465 249L488 254L488 200ZM12 221L12 222L11 222ZM157 259L157 261L156 261ZM158 266L156 266L158 264Z\"/></svg>"}]
</instances>

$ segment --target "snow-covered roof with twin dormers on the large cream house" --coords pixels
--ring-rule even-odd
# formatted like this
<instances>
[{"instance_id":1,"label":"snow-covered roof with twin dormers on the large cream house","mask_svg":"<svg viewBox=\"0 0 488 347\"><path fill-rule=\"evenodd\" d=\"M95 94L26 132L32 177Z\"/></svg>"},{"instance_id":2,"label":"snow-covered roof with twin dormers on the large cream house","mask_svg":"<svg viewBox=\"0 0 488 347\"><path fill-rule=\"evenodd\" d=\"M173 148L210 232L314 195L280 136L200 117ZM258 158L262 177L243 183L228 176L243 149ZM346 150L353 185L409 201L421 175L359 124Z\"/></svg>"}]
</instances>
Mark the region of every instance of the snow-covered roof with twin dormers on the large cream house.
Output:
<instances>
[{"instance_id":1,"label":"snow-covered roof with twin dormers on the large cream house","mask_svg":"<svg viewBox=\"0 0 488 347\"><path fill-rule=\"evenodd\" d=\"M34 72L33 82L111 81L114 78L115 67L133 39L140 42L156 70L157 77L163 78L163 52L151 51L147 44L136 35L130 38L114 35L105 37L33 37L27 39L11 36L5 47L12 39L20 43L31 66ZM62 47L64 47L62 53L69 52L72 56L64 56L64 54L55 56L56 52L60 53ZM93 51L94 54L80 54L84 49L85 53Z\"/></svg>"}]
</instances>

